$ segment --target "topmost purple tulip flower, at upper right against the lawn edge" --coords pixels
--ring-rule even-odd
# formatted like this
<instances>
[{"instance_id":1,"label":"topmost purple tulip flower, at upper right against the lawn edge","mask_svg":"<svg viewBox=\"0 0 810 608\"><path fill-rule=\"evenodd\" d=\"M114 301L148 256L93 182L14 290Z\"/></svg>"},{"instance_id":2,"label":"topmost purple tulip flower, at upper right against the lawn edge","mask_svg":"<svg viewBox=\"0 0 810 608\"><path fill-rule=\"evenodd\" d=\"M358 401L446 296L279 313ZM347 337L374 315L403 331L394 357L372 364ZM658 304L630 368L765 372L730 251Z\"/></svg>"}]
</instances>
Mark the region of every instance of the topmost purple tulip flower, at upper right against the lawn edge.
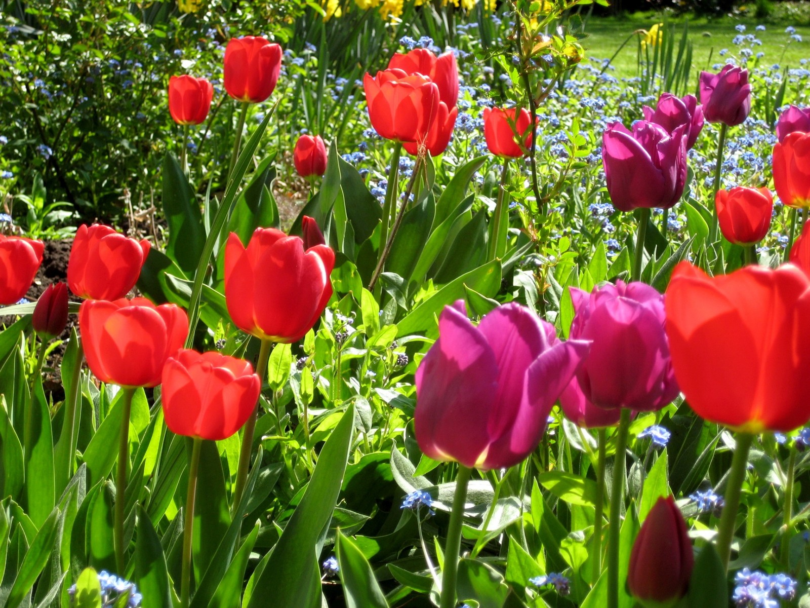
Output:
<instances>
[{"instance_id":1,"label":"topmost purple tulip flower, at upper right against the lawn edge","mask_svg":"<svg viewBox=\"0 0 810 608\"><path fill-rule=\"evenodd\" d=\"M701 104L709 122L739 125L751 111L751 85L748 70L724 66L718 74L701 72Z\"/></svg>"}]
</instances>

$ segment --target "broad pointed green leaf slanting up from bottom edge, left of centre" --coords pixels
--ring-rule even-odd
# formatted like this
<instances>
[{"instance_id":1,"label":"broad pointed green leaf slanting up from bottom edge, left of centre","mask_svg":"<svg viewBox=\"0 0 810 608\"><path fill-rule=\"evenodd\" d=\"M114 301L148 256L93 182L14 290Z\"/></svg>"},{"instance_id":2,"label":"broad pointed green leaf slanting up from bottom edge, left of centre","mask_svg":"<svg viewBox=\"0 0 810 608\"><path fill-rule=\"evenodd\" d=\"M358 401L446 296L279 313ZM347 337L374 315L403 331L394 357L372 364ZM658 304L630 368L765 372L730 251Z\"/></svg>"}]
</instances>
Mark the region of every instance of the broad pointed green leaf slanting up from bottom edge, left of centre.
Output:
<instances>
[{"instance_id":1,"label":"broad pointed green leaf slanting up from bottom edge, left of centre","mask_svg":"<svg viewBox=\"0 0 810 608\"><path fill-rule=\"evenodd\" d=\"M326 439L309 486L256 581L247 608L265 606L268 597L273 598L274 608L309 608L321 601L316 548L338 499L352 447L354 417L350 404Z\"/></svg>"}]
</instances>

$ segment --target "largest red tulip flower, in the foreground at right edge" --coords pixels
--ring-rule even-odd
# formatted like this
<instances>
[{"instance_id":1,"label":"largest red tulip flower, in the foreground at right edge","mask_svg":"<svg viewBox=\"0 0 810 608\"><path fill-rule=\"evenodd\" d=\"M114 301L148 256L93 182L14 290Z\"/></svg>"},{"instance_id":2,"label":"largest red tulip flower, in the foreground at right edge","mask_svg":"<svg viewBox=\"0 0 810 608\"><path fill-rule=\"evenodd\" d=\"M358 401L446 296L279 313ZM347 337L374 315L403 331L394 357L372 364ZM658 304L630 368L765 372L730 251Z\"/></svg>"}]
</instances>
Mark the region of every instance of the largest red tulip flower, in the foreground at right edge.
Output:
<instances>
[{"instance_id":1,"label":"largest red tulip flower, in the foreground at right edge","mask_svg":"<svg viewBox=\"0 0 810 608\"><path fill-rule=\"evenodd\" d=\"M810 419L810 279L799 268L710 278L682 262L664 303L676 379L699 416L755 434Z\"/></svg>"}]
</instances>

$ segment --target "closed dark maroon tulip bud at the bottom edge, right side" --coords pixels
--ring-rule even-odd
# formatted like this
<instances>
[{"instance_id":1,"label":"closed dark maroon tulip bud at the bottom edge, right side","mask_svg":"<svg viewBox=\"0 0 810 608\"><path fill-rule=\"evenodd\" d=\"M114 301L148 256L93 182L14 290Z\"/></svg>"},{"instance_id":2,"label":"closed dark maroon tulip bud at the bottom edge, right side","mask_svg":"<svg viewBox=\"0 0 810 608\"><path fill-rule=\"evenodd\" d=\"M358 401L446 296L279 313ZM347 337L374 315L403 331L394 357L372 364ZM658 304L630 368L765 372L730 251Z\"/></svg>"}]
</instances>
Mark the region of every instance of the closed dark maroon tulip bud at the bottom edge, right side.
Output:
<instances>
[{"instance_id":1,"label":"closed dark maroon tulip bud at the bottom edge, right side","mask_svg":"<svg viewBox=\"0 0 810 608\"><path fill-rule=\"evenodd\" d=\"M671 496L658 499L633 542L627 588L644 606L670 608L689 589L693 566L684 516Z\"/></svg>"}]
</instances>

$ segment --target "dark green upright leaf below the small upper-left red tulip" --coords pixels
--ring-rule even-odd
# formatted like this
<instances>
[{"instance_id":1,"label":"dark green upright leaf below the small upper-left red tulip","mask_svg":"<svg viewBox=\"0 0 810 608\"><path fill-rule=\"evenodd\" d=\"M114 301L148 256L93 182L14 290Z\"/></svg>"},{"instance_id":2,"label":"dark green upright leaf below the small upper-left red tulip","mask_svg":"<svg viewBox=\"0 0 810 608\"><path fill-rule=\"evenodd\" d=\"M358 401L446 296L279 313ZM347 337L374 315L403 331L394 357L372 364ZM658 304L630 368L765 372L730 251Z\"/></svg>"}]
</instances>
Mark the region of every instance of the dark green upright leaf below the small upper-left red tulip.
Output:
<instances>
[{"instance_id":1,"label":"dark green upright leaf below the small upper-left red tulip","mask_svg":"<svg viewBox=\"0 0 810 608\"><path fill-rule=\"evenodd\" d=\"M185 276L194 270L205 245L203 213L177 159L166 152L163 161L163 211L168 223L166 255Z\"/></svg>"}]
</instances>

